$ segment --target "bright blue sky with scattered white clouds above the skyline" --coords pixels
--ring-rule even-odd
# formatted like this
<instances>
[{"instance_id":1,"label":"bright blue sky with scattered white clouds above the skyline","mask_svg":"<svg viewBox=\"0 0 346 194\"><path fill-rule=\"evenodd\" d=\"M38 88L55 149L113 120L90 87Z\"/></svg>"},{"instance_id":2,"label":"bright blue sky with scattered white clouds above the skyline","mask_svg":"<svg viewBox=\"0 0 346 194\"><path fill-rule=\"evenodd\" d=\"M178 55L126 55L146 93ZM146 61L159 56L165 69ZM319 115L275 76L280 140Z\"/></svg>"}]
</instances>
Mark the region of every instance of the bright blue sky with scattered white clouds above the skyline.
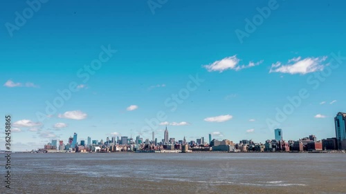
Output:
<instances>
[{"instance_id":1,"label":"bright blue sky with scattered white clouds above the skyline","mask_svg":"<svg viewBox=\"0 0 346 194\"><path fill-rule=\"evenodd\" d=\"M15 151L73 133L161 140L165 124L188 141L264 142L273 128L322 139L346 111L344 1L35 2L0 6L0 111Z\"/></svg>"}]
</instances>

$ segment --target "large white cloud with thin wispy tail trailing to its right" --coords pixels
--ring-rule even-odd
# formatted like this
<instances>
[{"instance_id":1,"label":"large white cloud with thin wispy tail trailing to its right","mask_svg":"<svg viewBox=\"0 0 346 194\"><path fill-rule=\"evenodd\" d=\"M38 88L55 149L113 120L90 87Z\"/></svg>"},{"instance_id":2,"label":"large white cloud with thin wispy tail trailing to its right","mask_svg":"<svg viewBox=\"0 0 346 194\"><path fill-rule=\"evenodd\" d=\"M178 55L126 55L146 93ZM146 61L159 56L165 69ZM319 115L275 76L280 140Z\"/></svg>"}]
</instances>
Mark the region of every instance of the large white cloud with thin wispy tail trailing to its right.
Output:
<instances>
[{"instance_id":1,"label":"large white cloud with thin wispy tail trailing to its right","mask_svg":"<svg viewBox=\"0 0 346 194\"><path fill-rule=\"evenodd\" d=\"M254 66L258 66L262 64L262 61L258 61L257 63L253 63L252 61L248 65L239 65L240 59L237 58L237 55L233 55L232 57L226 57L221 59L220 61L215 61L212 64L205 65L203 68L206 68L209 72L219 71L223 72L224 70L232 69L232 70L242 70L244 68L251 68Z\"/></svg>"}]
</instances>

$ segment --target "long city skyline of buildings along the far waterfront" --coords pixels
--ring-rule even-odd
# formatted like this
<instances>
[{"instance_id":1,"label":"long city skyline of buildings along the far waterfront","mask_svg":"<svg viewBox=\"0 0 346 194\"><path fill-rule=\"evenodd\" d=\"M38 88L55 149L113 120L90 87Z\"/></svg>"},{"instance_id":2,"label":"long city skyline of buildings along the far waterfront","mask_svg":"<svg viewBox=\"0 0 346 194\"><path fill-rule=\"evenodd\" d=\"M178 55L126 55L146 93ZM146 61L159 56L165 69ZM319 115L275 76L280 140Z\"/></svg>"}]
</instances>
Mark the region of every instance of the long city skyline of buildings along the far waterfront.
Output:
<instances>
[{"instance_id":1,"label":"long city skyline of buildings along the far waterfront","mask_svg":"<svg viewBox=\"0 0 346 194\"><path fill-rule=\"evenodd\" d=\"M309 135L302 139L293 141L285 141L282 136L282 129L275 129L275 139L266 140L264 144L255 143L252 140L244 139L235 144L228 139L218 140L212 139L209 134L208 142L204 137L196 139L196 141L187 142L185 137L176 141L170 138L167 126L164 132L164 139L158 142L152 132L152 140L145 139L139 135L136 139L132 137L107 137L103 139L92 140L88 137L87 142L81 140L78 142L78 134L74 133L73 137L69 137L69 142L64 144L63 141L57 142L53 139L51 143L39 149L41 152L69 152L69 153L89 153L89 152L148 152L148 153L177 153L177 152L302 152L302 151L331 151L346 150L346 113L338 113L334 118L336 137L322 139L318 141L315 135Z\"/></svg>"}]
</instances>

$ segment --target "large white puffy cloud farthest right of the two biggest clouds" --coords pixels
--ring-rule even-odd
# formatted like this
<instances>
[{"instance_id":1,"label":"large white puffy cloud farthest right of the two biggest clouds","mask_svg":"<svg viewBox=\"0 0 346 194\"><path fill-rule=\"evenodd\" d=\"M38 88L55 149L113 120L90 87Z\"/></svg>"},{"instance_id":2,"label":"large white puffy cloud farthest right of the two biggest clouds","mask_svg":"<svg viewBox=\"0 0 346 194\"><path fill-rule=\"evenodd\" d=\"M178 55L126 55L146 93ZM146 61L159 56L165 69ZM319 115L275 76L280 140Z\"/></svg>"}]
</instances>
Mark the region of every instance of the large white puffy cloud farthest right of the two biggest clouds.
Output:
<instances>
[{"instance_id":1,"label":"large white puffy cloud farthest right of the two biggest clouds","mask_svg":"<svg viewBox=\"0 0 346 194\"><path fill-rule=\"evenodd\" d=\"M305 75L309 72L323 70L323 68L328 65L322 64L326 59L327 57L307 57L305 59L302 59L302 57L296 57L289 59L287 64L282 64L280 61L277 61L276 64L271 65L271 70L269 72Z\"/></svg>"}]
</instances>

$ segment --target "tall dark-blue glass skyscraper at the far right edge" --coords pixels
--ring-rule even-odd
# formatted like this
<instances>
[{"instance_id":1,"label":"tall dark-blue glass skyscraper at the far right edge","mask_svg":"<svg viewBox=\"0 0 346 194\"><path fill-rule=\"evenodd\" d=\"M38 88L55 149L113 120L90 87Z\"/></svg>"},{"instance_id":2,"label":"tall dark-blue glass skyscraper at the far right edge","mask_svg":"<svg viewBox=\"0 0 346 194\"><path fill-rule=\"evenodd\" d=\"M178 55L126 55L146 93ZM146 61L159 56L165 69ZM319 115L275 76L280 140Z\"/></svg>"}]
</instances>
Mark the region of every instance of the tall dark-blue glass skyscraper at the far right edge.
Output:
<instances>
[{"instance_id":1,"label":"tall dark-blue glass skyscraper at the far right edge","mask_svg":"<svg viewBox=\"0 0 346 194\"><path fill-rule=\"evenodd\" d=\"M346 150L346 113L338 113L334 121L338 149Z\"/></svg>"}]
</instances>

